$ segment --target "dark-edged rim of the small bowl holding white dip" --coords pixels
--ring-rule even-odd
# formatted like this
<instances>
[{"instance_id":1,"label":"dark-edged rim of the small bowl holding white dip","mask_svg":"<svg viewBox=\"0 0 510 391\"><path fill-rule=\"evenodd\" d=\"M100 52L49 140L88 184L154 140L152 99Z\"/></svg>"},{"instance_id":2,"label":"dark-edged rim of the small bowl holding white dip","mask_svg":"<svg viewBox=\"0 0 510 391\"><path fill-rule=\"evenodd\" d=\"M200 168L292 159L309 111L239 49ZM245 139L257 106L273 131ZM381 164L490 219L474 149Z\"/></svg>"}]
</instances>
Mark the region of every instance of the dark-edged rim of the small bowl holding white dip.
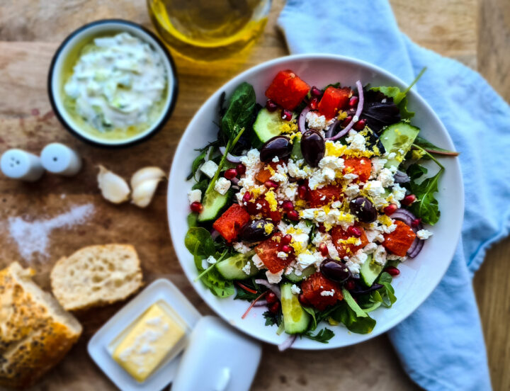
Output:
<instances>
[{"instance_id":1,"label":"dark-edged rim of the small bowl holding white dip","mask_svg":"<svg viewBox=\"0 0 510 391\"><path fill-rule=\"evenodd\" d=\"M171 70L171 75L168 75L168 77L171 77L173 79L174 83L173 83L173 88L171 89L171 91L167 92L168 98L166 100L169 101L169 106L166 109L166 113L164 113L164 115L162 115L160 120L155 125L153 125L154 128L152 128L152 130L150 132L147 132L142 137L137 137L134 140L127 139L125 141L121 140L118 142L101 142L98 139L92 140L91 138L86 137L82 132L79 132L78 130L74 129L72 127L72 125L70 125L67 122L67 120L65 120L64 116L60 113L60 109L57 107L57 99L55 98L55 96L53 94L52 82L53 82L53 77L55 74L55 65L57 64L57 60L60 58L60 55L62 55L62 51L64 50L64 48L67 47L69 42L74 37L76 37L77 35L79 35L81 33L84 33L86 30L89 30L90 28L93 28L95 26L105 25L105 27L107 27L108 25L115 25L115 24L118 25L120 27L120 29L122 29L123 26L130 26L131 28L135 28L136 30L140 30L142 33L145 33L146 35L149 35L149 37L152 38L154 40L154 42L156 42L158 47L164 53L164 57L168 61L169 68ZM145 40L145 42L147 42L147 40ZM152 42L149 42L149 43L152 43ZM62 43L59 45L59 47L55 51L55 54L53 55L51 63L50 63L50 69L48 70L48 74L47 74L47 93L48 93L48 97L50 98L50 104L52 106L53 112L57 116L58 120L60 120L60 123L64 126L64 128L68 132L70 132L72 135L74 135L74 137L77 137L79 140L86 142L89 145L94 145L95 147L118 149L118 148L122 148L122 147L132 147L133 145L137 145L140 142L147 141L147 140L149 140L150 137L153 137L154 135L157 134L157 132L159 132L160 130L162 130L162 128L164 128L164 125L166 125L166 123L170 119L171 114L174 112L174 108L176 106L177 96L179 94L179 81L178 81L177 70L176 70L176 66L175 66L173 57L171 56L168 48L166 47L166 45L164 45L162 40L160 40L159 37L156 34L154 34L151 30L149 30L148 28L145 28L144 26L142 26L138 23L135 23L132 21L126 21L125 19L120 19L120 18L100 19L98 21L93 21L91 23L84 24L84 26L77 28L76 30L72 31L72 33L69 33L69 35L67 35L66 38L64 38Z\"/></svg>"}]
</instances>

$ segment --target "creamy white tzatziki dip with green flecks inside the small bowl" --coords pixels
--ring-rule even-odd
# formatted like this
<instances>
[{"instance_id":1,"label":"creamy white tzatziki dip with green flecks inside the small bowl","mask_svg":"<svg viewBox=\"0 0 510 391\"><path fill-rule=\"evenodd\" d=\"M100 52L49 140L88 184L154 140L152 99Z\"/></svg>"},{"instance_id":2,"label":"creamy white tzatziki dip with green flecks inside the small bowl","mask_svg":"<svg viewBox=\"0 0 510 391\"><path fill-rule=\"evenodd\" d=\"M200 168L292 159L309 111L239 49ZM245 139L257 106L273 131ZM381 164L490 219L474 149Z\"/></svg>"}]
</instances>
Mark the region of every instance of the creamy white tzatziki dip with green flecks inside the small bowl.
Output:
<instances>
[{"instance_id":1,"label":"creamy white tzatziki dip with green flecks inside the small bowl","mask_svg":"<svg viewBox=\"0 0 510 391\"><path fill-rule=\"evenodd\" d=\"M131 137L162 113L166 69L158 52L129 33L95 38L79 52L64 94L67 110L87 131Z\"/></svg>"}]
</instances>

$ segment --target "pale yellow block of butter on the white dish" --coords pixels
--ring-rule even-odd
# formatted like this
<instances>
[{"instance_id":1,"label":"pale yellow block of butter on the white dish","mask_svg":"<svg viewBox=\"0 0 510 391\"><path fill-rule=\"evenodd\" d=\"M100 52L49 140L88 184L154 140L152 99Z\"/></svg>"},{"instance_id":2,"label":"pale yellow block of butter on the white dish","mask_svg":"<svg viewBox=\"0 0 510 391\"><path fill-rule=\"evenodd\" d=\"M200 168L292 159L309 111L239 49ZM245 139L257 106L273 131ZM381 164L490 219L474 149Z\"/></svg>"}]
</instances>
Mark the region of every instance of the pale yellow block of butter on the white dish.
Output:
<instances>
[{"instance_id":1,"label":"pale yellow block of butter on the white dish","mask_svg":"<svg viewBox=\"0 0 510 391\"><path fill-rule=\"evenodd\" d=\"M181 341L185 330L181 324L154 304L136 322L115 351L117 361L133 378L143 382Z\"/></svg>"}]
</instances>

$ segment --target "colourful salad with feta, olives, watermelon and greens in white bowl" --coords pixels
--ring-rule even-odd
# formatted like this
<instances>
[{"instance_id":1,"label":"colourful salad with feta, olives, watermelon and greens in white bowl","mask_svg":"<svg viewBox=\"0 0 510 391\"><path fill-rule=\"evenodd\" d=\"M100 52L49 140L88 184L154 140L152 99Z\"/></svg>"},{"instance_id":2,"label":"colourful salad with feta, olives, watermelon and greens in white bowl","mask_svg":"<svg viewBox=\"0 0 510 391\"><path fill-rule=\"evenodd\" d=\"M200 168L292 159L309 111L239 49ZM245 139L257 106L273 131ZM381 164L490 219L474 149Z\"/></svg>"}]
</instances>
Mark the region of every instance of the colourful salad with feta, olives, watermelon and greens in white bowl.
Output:
<instances>
[{"instance_id":1,"label":"colourful salad with feta, olives, watermelon and greens in white bowl","mask_svg":"<svg viewBox=\"0 0 510 391\"><path fill-rule=\"evenodd\" d=\"M340 325L373 330L370 312L397 300L399 263L440 217L438 157L458 154L412 124L413 84L333 83L283 70L264 106L246 82L222 94L217 140L198 149L188 177L196 280L249 302L242 318L264 307L261 322L290 334L282 349L296 336L327 343Z\"/></svg>"}]
</instances>

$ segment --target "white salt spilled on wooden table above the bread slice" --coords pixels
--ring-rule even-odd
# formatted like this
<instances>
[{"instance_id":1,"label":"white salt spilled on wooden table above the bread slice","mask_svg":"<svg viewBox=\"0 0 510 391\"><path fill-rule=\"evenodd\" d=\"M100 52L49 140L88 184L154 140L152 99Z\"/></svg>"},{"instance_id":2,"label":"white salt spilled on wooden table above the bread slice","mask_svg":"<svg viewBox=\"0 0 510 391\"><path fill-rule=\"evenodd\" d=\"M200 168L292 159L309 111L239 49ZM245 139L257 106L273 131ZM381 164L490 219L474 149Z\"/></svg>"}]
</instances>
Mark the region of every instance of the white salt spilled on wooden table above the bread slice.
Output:
<instances>
[{"instance_id":1,"label":"white salt spilled on wooden table above the bread slice","mask_svg":"<svg viewBox=\"0 0 510 391\"><path fill-rule=\"evenodd\" d=\"M82 224L93 213L94 205L88 203L74 206L69 212L47 220L28 222L23 220L22 217L9 217L9 234L18 244L18 251L23 259L29 261L35 253L47 256L46 249L53 229L69 228L73 225Z\"/></svg>"}]
</instances>

